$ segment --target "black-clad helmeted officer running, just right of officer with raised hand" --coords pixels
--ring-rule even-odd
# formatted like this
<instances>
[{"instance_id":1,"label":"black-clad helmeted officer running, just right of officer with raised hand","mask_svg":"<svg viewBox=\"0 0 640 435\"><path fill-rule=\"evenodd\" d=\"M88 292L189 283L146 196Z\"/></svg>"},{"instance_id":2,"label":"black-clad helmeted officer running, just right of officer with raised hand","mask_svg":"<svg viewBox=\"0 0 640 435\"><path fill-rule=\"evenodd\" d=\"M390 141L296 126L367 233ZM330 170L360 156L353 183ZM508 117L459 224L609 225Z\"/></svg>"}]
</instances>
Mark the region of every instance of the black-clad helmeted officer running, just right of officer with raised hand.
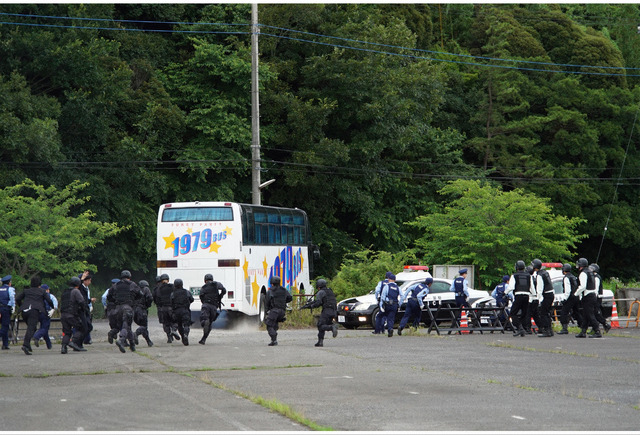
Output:
<instances>
[{"instance_id":1,"label":"black-clad helmeted officer running, just right of officer with raised hand","mask_svg":"<svg viewBox=\"0 0 640 435\"><path fill-rule=\"evenodd\" d=\"M131 323L133 322L134 301L139 298L142 298L142 290L138 284L131 281L131 272L123 270L120 272L120 281L116 284L115 289L109 290L107 295L107 300L115 303L116 319L120 329L120 338L116 340L116 346L122 353L125 352L127 341L129 348L132 351L136 350Z\"/></svg>"}]
</instances>

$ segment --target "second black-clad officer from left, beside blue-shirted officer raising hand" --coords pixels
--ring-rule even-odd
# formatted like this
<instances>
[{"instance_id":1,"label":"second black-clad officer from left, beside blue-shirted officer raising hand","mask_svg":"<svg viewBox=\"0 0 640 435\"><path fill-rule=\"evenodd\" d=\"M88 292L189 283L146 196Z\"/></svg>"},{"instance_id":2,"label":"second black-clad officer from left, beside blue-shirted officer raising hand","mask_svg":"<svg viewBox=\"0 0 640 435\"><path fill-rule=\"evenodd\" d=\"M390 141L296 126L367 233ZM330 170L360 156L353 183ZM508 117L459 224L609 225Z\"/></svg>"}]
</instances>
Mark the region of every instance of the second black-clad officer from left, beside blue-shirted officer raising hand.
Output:
<instances>
[{"instance_id":1,"label":"second black-clad officer from left, beside blue-shirted officer raising hand","mask_svg":"<svg viewBox=\"0 0 640 435\"><path fill-rule=\"evenodd\" d=\"M67 346L75 351L86 351L82 347L84 340L84 313L86 302L80 292L82 281L77 276L69 280L69 288L62 292L60 296L60 322L62 323L62 348L60 353L67 353Z\"/></svg>"}]
</instances>

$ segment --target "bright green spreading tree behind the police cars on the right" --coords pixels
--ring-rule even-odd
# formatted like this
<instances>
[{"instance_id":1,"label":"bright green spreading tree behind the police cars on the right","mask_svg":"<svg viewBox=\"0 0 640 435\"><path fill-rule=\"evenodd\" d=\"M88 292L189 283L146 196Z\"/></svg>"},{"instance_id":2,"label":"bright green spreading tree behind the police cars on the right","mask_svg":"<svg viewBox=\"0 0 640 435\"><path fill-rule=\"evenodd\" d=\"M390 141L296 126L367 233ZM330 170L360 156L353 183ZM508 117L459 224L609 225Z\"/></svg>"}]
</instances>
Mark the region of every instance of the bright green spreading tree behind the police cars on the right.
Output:
<instances>
[{"instance_id":1,"label":"bright green spreading tree behind the police cars on the right","mask_svg":"<svg viewBox=\"0 0 640 435\"><path fill-rule=\"evenodd\" d=\"M521 189L505 192L477 180L457 180L440 190L441 211L410 222L424 235L416 249L430 263L473 264L488 286L513 271L517 260L572 259L579 218L554 215L549 201Z\"/></svg>"}]
</instances>

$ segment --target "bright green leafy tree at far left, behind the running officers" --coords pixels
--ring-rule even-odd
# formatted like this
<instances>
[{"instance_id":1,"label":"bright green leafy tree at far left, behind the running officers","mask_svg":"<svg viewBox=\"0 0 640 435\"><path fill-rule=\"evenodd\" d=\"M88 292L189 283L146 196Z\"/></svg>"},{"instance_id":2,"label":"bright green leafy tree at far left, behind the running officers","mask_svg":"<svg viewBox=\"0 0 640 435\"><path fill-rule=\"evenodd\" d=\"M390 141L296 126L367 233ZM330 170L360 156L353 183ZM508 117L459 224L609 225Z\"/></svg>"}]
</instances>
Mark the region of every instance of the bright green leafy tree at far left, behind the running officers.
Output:
<instances>
[{"instance_id":1,"label":"bright green leafy tree at far left, behind the running officers","mask_svg":"<svg viewBox=\"0 0 640 435\"><path fill-rule=\"evenodd\" d=\"M96 269L87 262L89 254L123 228L95 220L89 210L77 212L89 201L80 196L86 186L75 181L57 189L26 179L0 190L0 270L14 276L16 288L37 274L60 286Z\"/></svg>"}]
</instances>

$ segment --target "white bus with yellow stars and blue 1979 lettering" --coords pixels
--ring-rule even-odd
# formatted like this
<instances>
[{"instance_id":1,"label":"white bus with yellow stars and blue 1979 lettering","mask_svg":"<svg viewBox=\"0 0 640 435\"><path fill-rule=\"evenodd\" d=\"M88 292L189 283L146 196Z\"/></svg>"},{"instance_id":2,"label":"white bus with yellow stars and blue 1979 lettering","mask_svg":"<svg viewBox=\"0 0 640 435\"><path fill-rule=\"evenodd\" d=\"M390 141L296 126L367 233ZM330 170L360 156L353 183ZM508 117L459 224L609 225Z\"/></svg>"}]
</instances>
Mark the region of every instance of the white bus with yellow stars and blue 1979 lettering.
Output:
<instances>
[{"instance_id":1,"label":"white bus with yellow stars and blue 1979 lettering","mask_svg":"<svg viewBox=\"0 0 640 435\"><path fill-rule=\"evenodd\" d=\"M157 273L182 279L200 313L204 276L222 283L227 313L258 316L264 322L265 295L272 276L292 295L313 294L309 279L317 247L307 214L297 208L234 202L177 202L158 212Z\"/></svg>"}]
</instances>

